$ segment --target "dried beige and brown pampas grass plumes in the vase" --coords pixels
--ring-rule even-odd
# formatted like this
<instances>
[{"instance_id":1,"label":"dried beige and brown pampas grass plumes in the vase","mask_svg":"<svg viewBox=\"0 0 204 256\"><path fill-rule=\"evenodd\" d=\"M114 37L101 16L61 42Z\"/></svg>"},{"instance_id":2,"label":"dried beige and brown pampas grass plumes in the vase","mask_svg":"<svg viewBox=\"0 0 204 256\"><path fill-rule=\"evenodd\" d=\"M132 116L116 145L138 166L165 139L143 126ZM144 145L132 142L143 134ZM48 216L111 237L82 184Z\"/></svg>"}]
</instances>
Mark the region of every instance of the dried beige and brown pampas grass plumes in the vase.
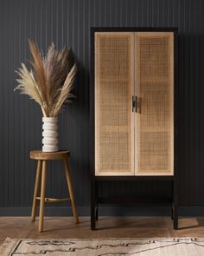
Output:
<instances>
[{"instance_id":1,"label":"dried beige and brown pampas grass plumes in the vase","mask_svg":"<svg viewBox=\"0 0 204 256\"><path fill-rule=\"evenodd\" d=\"M22 63L17 71L19 77L16 89L35 100L41 106L44 117L55 117L60 113L62 105L73 97L77 67L73 63L72 50L64 47L58 51L54 49L54 43L51 43L47 56L43 56L31 40L29 50L33 69L29 71Z\"/></svg>"}]
</instances>

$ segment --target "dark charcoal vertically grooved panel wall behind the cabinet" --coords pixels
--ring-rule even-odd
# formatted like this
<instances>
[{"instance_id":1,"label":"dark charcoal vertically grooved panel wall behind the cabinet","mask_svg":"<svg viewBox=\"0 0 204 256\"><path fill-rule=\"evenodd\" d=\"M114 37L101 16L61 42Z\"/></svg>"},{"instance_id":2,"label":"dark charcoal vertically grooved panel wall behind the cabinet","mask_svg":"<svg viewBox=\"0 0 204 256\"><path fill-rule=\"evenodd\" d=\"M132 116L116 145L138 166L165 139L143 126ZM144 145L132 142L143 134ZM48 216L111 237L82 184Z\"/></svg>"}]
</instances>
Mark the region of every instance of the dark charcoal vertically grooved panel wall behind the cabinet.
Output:
<instances>
[{"instance_id":1,"label":"dark charcoal vertically grooved panel wall behind the cabinet","mask_svg":"<svg viewBox=\"0 0 204 256\"><path fill-rule=\"evenodd\" d=\"M1 0L0 1L0 214L30 207L35 161L41 148L41 110L13 91L21 62L29 63L28 38L46 51L67 43L79 65L76 99L61 113L61 148L70 167L80 213L89 213L90 27L178 27L179 201L204 206L204 3L202 0ZM61 162L49 164L47 192L65 196ZM168 182L102 182L100 194L170 194ZM66 204L61 206L65 207ZM12 207L12 208L11 208ZM13 209L15 207L15 209ZM12 210L11 210L12 209ZM15 212L16 211L16 212Z\"/></svg>"}]
</instances>

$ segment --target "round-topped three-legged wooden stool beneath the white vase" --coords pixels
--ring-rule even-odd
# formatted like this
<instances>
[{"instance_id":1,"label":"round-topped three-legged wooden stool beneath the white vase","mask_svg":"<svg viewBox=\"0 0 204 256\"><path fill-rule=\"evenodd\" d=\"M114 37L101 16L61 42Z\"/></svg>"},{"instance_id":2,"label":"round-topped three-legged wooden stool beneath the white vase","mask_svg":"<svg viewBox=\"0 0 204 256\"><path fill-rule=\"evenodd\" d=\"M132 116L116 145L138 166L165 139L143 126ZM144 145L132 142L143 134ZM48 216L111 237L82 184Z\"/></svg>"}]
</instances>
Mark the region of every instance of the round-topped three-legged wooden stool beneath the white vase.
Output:
<instances>
[{"instance_id":1,"label":"round-topped three-legged wooden stool beneath the white vase","mask_svg":"<svg viewBox=\"0 0 204 256\"><path fill-rule=\"evenodd\" d=\"M75 202L74 202L74 196L73 196L73 186L72 186L71 176L69 173L68 156L69 156L69 151L57 151L57 152L53 152L53 153L47 153L47 152L42 152L41 150L34 150L34 151L30 152L30 158L38 161L36 178L35 178L35 190L34 190L31 220L35 221L36 203L37 203L37 200L40 200L41 202L40 202L39 228L38 228L39 232L41 232L43 229L45 202L52 203L52 202L57 202L57 201L71 200L71 204L72 204L72 208L73 208L73 216L75 218L75 222L79 223L79 218L78 218L78 214L77 214L77 210L76 210ZM66 173L66 178L67 178L67 186L68 186L70 198L54 199L54 198L46 198L45 197L47 161L48 160L63 160L64 161L65 173ZM37 192L38 192L40 177L41 177L41 197L38 197Z\"/></svg>"}]
</instances>

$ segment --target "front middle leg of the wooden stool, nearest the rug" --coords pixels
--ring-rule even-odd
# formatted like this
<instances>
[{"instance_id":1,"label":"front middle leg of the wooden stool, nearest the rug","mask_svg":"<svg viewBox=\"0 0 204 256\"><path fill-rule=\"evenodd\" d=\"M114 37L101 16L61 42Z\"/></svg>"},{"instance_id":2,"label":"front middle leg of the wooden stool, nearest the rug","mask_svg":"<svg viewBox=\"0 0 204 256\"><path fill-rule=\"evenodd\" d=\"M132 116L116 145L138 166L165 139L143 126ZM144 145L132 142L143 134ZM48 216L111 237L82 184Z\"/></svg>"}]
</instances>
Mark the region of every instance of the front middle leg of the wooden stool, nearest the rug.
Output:
<instances>
[{"instance_id":1,"label":"front middle leg of the wooden stool, nearest the rug","mask_svg":"<svg viewBox=\"0 0 204 256\"><path fill-rule=\"evenodd\" d=\"M38 228L39 232L41 232L42 229L43 229L44 207L45 207L45 189L46 189L46 173L47 173L47 161L42 161L41 203L40 203L39 228Z\"/></svg>"}]
</instances>

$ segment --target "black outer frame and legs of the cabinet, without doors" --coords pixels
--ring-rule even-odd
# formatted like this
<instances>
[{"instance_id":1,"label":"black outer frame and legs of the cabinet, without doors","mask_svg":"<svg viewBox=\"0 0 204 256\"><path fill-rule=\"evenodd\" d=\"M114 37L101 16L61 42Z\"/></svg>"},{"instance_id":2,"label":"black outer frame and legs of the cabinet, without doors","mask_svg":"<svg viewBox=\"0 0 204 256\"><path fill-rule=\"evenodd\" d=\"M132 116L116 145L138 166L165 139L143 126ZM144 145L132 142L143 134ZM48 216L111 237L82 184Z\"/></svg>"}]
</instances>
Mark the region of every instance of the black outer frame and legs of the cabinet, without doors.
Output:
<instances>
[{"instance_id":1,"label":"black outer frame and legs of the cabinet, without doors","mask_svg":"<svg viewBox=\"0 0 204 256\"><path fill-rule=\"evenodd\" d=\"M171 176L95 176L95 162L94 162L94 33L95 32L174 32L174 175ZM178 128L178 29L171 28L137 28L137 27L92 27L91 41L90 41L90 170L91 170L91 229L96 229L96 220L98 220L99 204L118 204L124 202L126 204L143 204L157 206L170 205L171 218L173 219L174 229L178 229L178 168L179 168L179 128ZM170 199L126 199L119 200L114 198L99 198L98 187L99 181L169 181L172 185L172 196Z\"/></svg>"}]
</instances>

